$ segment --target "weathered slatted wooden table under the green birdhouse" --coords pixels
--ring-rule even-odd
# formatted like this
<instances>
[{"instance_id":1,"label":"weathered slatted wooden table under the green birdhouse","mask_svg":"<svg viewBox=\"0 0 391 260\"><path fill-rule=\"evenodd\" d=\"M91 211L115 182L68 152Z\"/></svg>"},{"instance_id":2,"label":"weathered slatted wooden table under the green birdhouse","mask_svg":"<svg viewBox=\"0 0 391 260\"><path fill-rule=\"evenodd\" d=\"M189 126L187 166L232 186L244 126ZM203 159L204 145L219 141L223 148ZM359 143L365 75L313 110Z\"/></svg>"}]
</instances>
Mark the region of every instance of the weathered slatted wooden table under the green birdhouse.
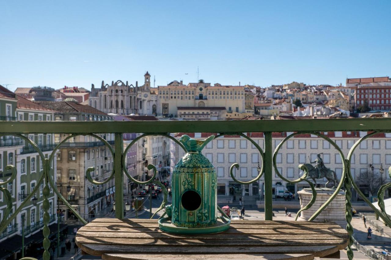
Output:
<instances>
[{"instance_id":1,"label":"weathered slatted wooden table under the green birdhouse","mask_svg":"<svg viewBox=\"0 0 391 260\"><path fill-rule=\"evenodd\" d=\"M156 219L95 219L79 229L76 244L102 259L314 259L339 258L348 233L333 222L235 220L211 235L161 232Z\"/></svg>"}]
</instances>

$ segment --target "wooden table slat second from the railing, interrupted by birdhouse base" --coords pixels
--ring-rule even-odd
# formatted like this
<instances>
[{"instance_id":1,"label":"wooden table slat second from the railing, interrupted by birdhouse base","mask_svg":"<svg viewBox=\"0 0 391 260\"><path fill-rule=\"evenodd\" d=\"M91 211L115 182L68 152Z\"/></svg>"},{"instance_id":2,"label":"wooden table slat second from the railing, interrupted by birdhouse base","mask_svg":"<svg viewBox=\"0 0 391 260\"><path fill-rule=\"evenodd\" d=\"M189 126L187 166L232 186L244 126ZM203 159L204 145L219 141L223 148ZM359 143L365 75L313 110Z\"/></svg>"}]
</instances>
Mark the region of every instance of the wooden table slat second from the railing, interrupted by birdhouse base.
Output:
<instances>
[{"instance_id":1,"label":"wooden table slat second from the railing, interrupted by birdhouse base","mask_svg":"<svg viewBox=\"0 0 391 260\"><path fill-rule=\"evenodd\" d=\"M104 223L104 222L95 222L91 223L89 227L108 227L108 228L159 228L158 223ZM337 224L312 224L312 223L307 223L307 224L296 224L296 223L291 223L291 224L273 224L273 225L264 225L264 224L231 224L230 229L235 229L235 228L241 228L241 229L270 229L270 228L340 228L339 225Z\"/></svg>"}]
</instances>

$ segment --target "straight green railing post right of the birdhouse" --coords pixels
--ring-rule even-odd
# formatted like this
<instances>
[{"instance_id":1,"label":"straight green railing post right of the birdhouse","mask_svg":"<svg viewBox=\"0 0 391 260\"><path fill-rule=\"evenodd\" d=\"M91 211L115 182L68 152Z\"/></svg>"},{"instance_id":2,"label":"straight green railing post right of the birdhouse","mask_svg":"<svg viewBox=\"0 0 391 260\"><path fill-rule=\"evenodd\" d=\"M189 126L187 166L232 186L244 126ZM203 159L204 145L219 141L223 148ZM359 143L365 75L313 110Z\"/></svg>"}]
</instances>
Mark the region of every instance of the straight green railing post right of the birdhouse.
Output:
<instances>
[{"instance_id":1,"label":"straight green railing post right of the birdhouse","mask_svg":"<svg viewBox=\"0 0 391 260\"><path fill-rule=\"evenodd\" d=\"M273 220L273 145L271 132L265 132L265 220Z\"/></svg>"}]
</instances>

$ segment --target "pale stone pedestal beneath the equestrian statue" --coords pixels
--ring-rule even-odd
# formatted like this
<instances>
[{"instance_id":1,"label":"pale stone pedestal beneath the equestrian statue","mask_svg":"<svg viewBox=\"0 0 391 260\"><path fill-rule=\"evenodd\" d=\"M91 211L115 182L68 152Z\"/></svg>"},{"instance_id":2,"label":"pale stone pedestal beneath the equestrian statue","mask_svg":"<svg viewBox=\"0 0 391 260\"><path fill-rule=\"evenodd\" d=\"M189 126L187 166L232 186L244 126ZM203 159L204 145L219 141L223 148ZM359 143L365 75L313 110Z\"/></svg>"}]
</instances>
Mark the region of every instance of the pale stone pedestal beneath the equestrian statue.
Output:
<instances>
[{"instance_id":1,"label":"pale stone pedestal beneath the equestrian statue","mask_svg":"<svg viewBox=\"0 0 391 260\"><path fill-rule=\"evenodd\" d=\"M334 193L334 189L315 188L317 192L316 201L307 210L300 213L298 220L307 221L318 210L323 203ZM305 207L312 197L312 189L306 188L298 192L300 198L300 208ZM345 192L340 191L330 204L319 214L316 221L334 221L342 227L346 226L345 219Z\"/></svg>"}]
</instances>

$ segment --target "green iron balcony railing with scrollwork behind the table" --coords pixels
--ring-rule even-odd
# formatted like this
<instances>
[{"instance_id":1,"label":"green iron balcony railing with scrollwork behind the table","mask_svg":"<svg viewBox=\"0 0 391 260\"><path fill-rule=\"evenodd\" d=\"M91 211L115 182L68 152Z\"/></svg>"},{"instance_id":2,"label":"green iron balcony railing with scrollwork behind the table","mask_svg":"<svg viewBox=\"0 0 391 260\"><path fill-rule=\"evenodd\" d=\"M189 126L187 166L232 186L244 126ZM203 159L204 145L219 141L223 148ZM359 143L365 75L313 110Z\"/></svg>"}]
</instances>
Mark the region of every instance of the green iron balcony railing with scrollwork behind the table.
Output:
<instances>
[{"instance_id":1,"label":"green iron balcony railing with scrollwork behind the table","mask_svg":"<svg viewBox=\"0 0 391 260\"><path fill-rule=\"evenodd\" d=\"M341 149L335 144L334 141L326 137L325 135L321 134L321 132L328 132L328 131L369 131L370 133L367 134L364 137L361 137L350 149L348 155L344 155L344 153L341 151ZM127 145L127 147L124 150L124 142L123 142L123 134L124 133L143 133L142 135L136 137L130 144ZM366 203L368 203L369 207L373 209L373 211L376 212L376 214L384 220L384 222L391 226L391 219L387 216L385 210L384 210L384 193L386 189L391 187L391 183L384 184L380 187L378 191L378 205L380 207L380 210L375 208L371 202L362 194L360 191L358 185L355 183L354 179L352 178L352 174L350 171L350 163L352 160L352 155L359 146L359 144L364 141L365 139L378 134L378 133L384 133L384 132L391 132L391 118L359 118L359 119L301 119L301 120L246 120L246 121L90 121L90 122L25 122L25 121L17 121L17 122L0 122L0 136L4 135L14 135L15 137L19 137L25 142L28 142L32 148L38 152L39 156L43 160L43 171L41 176L39 176L39 179L37 180L36 187L34 190L27 196L27 198L20 204L18 208L14 210L14 213L11 215L11 217L5 217L2 219L0 223L0 232L3 232L9 223L13 221L13 219L16 217L18 213L22 210L23 207L26 206L27 201L30 201L33 194L35 194L38 191L38 188L41 183L44 183L44 189L43 189L43 235L45 239L43 240L43 248L45 249L43 253L43 259L48 260L50 258L50 254L48 252L48 249L50 247L50 240L48 239L50 230L48 228L48 223L50 223L50 215L49 215L49 186L51 186L54 190L54 192L57 194L59 200L61 200L67 208L72 211L79 220L86 224L87 222L81 217L81 215L76 212L75 208L70 205L66 201L66 199L60 194L57 187L54 185L53 176L50 176L50 167L52 165L52 160L56 158L56 150L63 147L62 145L66 143L70 138L76 137L78 135L89 135L91 137L95 137L100 142L102 142L106 147L109 149L109 153L113 156L114 161L114 167L111 170L111 175L104 180L103 182L98 182L96 180L93 180L91 178L91 172L95 171L94 167L90 167L86 171L86 178L95 185L102 185L105 183L108 183L111 179L114 178L115 180L115 201L117 201L116 210L115 210L115 217L122 219L124 217L124 194L123 194L123 182L124 182L124 175L125 173L129 180L132 182L137 183L138 185L145 185L148 183L152 183L156 185L160 185L163 189L163 202L161 206L158 208L158 210L152 215L152 218L156 215L158 211L163 209L165 204L167 203L167 190L165 189L164 185L162 185L160 182L154 180L157 174L156 167L152 164L149 164L147 166L147 169L153 170L153 175L150 180L145 182L140 182L138 180L135 180L133 177L131 177L127 171L127 165L126 165L126 153L129 150L129 148L135 144L139 139L152 135L152 136L164 136L166 138L171 139L172 141L176 142L181 148L183 148L185 151L186 149L183 147L183 145L174 137L170 136L170 133L174 132L184 132L184 133L190 133L190 132L207 132L207 133L217 133L215 138L223 137L224 135L240 135L241 137L247 139L249 142L251 142L256 149L259 151L261 156L261 163L262 167L259 168L258 176L256 176L253 180L249 181L239 181L235 178L235 175L233 174L234 168L239 168L239 164L233 164L230 168L230 174L233 180L235 180L237 183L241 184L250 184L258 181L261 176L264 176L264 183L265 183L265 220L272 220L273 219L273 201L272 201L272 179L273 179L273 169L274 172L280 176L283 180L285 180L288 183L298 183L298 182L307 182L308 185L312 188L313 191L313 197L308 203L308 205L305 206L305 209L308 209L312 206L314 201L316 200L316 190L314 189L314 185L312 182L307 180L308 177L308 168L306 165L299 165L300 169L303 170L304 174L298 178L297 180L288 180L284 178L281 173L278 172L278 169L276 167L276 156L278 154L278 151L282 147L282 144L292 138L294 135L297 134L313 134L317 135L319 138L322 138L326 140L327 142L330 142L332 146L334 146L338 151L339 155L342 158L342 164L343 164L343 172L341 176L341 180L337 183L335 183L335 191L331 195L331 197L321 205L319 209L316 210L316 212L310 217L309 220L314 220L316 217L324 210L327 205L337 196L339 191L344 187L345 189L345 196L346 196L346 221L347 226L346 230L349 233L349 243L348 243L348 258L353 259L353 251L352 251L352 244L353 244L353 227L351 225L351 219L352 219L352 204L351 204L351 198L352 198L352 192L351 190L354 189L359 196L361 196L362 199ZM264 136L264 147L265 149L262 150L258 144L253 141L247 134L243 133L251 133L251 132L262 132ZM273 138L272 133L273 132L294 132L294 134L291 134L285 139L280 142L280 144L276 147L276 149L273 151ZM56 147L53 148L53 151L50 153L50 156L48 158L45 158L43 155L43 152L40 147L38 147L34 142L29 140L27 137L25 137L23 134L36 134L36 133L49 133L49 134L70 134L68 137L66 137L61 143L57 144ZM96 133L96 134L93 134ZM113 133L115 135L114 140L114 146L112 146L111 142L106 141L102 137L100 137L97 134L110 134ZM12 208L12 198L9 191L5 188L6 184L11 182L16 177L16 168L13 165L8 165L5 167L6 170L11 171L11 177L0 183L0 191L3 192L5 201L7 202L7 209L5 210L3 216L8 216L11 212ZM389 175L391 178L391 170L389 169ZM1 187L3 186L3 187ZM118 203L119 201L122 201L122 203ZM300 212L299 212L300 213ZM299 213L297 215L299 215ZM164 213L165 214L165 213ZM164 215L163 214L163 215Z\"/></svg>"}]
</instances>

